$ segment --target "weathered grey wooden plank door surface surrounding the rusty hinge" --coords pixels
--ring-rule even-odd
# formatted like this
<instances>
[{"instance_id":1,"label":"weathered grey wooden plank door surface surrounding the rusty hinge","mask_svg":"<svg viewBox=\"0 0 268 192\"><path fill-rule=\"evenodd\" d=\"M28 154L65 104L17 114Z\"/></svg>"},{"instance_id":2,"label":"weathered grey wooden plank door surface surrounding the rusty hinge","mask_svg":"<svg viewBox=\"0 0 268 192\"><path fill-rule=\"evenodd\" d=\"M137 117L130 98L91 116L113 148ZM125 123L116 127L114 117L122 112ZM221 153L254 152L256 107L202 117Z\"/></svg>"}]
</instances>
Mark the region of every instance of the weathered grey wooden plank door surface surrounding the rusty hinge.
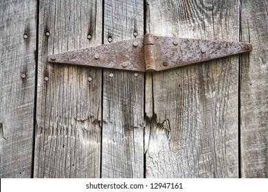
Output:
<instances>
[{"instance_id":1,"label":"weathered grey wooden plank door surface surrounding the rusty hinge","mask_svg":"<svg viewBox=\"0 0 268 192\"><path fill-rule=\"evenodd\" d=\"M1 1L1 178L267 177L265 8ZM148 32L251 42L254 51L155 73L47 62Z\"/></svg>"}]
</instances>

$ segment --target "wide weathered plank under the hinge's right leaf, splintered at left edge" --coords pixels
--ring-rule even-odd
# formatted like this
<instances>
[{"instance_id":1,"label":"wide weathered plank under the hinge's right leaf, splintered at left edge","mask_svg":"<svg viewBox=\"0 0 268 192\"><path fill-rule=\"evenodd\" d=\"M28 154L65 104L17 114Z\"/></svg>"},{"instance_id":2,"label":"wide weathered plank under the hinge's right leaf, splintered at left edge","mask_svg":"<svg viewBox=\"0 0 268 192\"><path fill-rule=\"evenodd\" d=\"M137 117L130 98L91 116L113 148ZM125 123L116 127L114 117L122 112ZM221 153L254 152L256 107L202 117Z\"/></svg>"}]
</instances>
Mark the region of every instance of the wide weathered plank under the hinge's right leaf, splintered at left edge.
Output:
<instances>
[{"instance_id":1,"label":"wide weathered plank under the hinge's right leaf, splintered at left edge","mask_svg":"<svg viewBox=\"0 0 268 192\"><path fill-rule=\"evenodd\" d=\"M238 1L148 0L146 7L146 32L239 40ZM238 177L238 56L153 73L152 95L146 177Z\"/></svg>"}]
</instances>

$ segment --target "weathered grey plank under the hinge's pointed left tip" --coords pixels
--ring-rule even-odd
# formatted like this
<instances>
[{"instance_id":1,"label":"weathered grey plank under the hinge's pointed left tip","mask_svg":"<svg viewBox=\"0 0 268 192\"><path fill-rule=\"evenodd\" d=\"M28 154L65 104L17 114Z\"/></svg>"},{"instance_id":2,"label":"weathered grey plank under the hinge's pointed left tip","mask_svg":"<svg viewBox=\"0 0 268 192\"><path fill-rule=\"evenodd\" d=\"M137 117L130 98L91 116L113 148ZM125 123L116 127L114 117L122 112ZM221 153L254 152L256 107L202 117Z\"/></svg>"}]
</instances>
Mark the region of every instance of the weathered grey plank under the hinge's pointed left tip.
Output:
<instances>
[{"instance_id":1,"label":"weathered grey plank under the hinge's pointed left tip","mask_svg":"<svg viewBox=\"0 0 268 192\"><path fill-rule=\"evenodd\" d=\"M34 177L98 178L102 70L50 64L47 55L100 45L102 3L41 1L39 10Z\"/></svg>"}]
</instances>

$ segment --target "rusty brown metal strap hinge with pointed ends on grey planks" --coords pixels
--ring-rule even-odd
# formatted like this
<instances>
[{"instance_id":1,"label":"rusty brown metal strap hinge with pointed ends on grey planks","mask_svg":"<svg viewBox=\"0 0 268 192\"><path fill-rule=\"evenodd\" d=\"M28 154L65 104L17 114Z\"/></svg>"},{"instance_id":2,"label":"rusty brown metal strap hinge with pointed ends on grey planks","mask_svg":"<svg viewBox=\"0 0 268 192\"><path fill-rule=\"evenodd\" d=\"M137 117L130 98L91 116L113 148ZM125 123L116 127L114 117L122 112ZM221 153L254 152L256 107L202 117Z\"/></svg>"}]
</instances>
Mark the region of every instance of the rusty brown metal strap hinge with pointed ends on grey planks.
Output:
<instances>
[{"instance_id":1,"label":"rusty brown metal strap hinge with pointed ends on grey planks","mask_svg":"<svg viewBox=\"0 0 268 192\"><path fill-rule=\"evenodd\" d=\"M144 38L54 54L47 60L145 72L172 69L247 51L252 51L252 44L145 34Z\"/></svg>"}]
</instances>

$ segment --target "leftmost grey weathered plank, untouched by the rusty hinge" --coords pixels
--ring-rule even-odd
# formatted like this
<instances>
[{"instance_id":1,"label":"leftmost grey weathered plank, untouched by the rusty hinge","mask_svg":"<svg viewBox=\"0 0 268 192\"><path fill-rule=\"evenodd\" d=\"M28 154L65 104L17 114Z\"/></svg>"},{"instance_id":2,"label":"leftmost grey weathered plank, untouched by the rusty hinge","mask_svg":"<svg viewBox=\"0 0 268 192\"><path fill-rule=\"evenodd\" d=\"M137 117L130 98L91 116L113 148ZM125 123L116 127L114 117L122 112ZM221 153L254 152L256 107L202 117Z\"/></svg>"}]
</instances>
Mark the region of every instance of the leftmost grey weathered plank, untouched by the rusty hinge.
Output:
<instances>
[{"instance_id":1,"label":"leftmost grey weathered plank, untouched by the rusty hinge","mask_svg":"<svg viewBox=\"0 0 268 192\"><path fill-rule=\"evenodd\" d=\"M36 1L0 1L0 178L32 176L35 16Z\"/></svg>"}]
</instances>

